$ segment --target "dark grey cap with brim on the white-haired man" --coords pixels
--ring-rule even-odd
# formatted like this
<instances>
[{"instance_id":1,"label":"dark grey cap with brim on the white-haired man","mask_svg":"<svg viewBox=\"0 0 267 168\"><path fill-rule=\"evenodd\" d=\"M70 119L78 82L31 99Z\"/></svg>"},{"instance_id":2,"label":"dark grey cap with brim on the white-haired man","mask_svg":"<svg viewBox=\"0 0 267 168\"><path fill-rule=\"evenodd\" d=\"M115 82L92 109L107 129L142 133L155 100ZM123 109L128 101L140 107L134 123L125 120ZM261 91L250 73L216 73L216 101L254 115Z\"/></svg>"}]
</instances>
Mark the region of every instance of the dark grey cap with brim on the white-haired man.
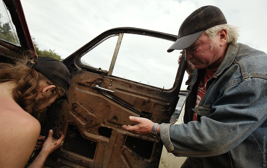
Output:
<instances>
[{"instance_id":1,"label":"dark grey cap with brim on the white-haired man","mask_svg":"<svg viewBox=\"0 0 267 168\"><path fill-rule=\"evenodd\" d=\"M183 21L176 42L172 44L167 52L188 48L204 30L224 23L227 23L227 21L221 9L215 6L198 8Z\"/></svg>"}]
</instances>

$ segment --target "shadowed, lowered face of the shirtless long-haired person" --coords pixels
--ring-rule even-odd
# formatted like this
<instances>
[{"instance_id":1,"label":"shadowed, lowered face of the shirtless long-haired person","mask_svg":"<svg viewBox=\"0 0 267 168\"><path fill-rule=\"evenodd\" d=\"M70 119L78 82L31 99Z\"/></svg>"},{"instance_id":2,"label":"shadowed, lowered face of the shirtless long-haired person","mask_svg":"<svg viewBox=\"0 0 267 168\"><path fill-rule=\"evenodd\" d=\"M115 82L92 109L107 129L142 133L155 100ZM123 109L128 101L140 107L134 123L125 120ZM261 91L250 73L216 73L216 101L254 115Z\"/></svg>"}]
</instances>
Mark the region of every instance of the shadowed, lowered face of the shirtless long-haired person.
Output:
<instances>
[{"instance_id":1,"label":"shadowed, lowered face of the shirtless long-haired person","mask_svg":"<svg viewBox=\"0 0 267 168\"><path fill-rule=\"evenodd\" d=\"M47 107L49 107L57 98L59 98L59 95L38 98L35 104L35 111L46 111Z\"/></svg>"}]
</instances>

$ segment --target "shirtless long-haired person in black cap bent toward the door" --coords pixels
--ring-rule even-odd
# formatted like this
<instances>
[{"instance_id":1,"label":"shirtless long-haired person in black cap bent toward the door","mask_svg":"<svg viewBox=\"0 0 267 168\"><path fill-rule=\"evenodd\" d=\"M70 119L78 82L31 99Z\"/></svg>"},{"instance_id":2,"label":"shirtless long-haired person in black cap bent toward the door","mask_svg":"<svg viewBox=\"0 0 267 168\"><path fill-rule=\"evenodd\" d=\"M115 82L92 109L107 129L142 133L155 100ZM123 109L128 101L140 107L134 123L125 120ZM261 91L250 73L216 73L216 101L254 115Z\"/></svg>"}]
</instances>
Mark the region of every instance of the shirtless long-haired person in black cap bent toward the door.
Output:
<instances>
[{"instance_id":1,"label":"shirtless long-haired person in black cap bent toward the door","mask_svg":"<svg viewBox=\"0 0 267 168\"><path fill-rule=\"evenodd\" d=\"M42 167L46 158L62 143L49 130L45 142L41 125L31 114L46 110L64 97L70 73L60 61L48 57L26 59L24 63L0 64L0 167L25 167L35 148L41 151L29 167ZM41 146L42 145L42 146Z\"/></svg>"}]
</instances>

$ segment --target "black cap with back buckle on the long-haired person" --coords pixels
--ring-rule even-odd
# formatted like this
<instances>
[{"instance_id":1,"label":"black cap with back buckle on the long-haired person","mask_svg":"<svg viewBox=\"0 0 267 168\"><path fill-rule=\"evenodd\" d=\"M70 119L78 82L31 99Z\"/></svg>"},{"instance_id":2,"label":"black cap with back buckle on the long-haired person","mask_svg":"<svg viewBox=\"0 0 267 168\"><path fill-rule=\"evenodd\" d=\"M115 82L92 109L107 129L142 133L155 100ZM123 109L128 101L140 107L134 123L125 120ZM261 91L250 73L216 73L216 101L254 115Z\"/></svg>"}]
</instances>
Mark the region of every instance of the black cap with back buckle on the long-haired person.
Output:
<instances>
[{"instance_id":1,"label":"black cap with back buckle on the long-haired person","mask_svg":"<svg viewBox=\"0 0 267 168\"><path fill-rule=\"evenodd\" d=\"M27 66L34 68L36 71L46 76L49 80L56 83L58 86L63 87L65 90L68 90L70 83L70 73L63 62L50 57L39 57L30 58ZM66 93L62 96L62 98L65 98L68 101Z\"/></svg>"}]
</instances>

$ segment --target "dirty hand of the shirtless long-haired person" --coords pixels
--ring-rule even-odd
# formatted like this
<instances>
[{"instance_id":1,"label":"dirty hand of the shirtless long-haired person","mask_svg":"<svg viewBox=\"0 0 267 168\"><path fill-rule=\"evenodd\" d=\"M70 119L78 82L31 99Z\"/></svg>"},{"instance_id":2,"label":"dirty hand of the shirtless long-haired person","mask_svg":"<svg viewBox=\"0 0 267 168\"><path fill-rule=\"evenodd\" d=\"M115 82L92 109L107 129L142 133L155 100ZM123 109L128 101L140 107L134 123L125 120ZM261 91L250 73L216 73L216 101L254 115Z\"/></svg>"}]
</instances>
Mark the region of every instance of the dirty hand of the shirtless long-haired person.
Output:
<instances>
[{"instance_id":1,"label":"dirty hand of the shirtless long-haired person","mask_svg":"<svg viewBox=\"0 0 267 168\"><path fill-rule=\"evenodd\" d=\"M62 132L58 132L58 134L60 138L56 140L55 138L52 137L53 130L49 130L48 137L46 138L46 141L42 145L42 150L41 150L42 152L47 152L48 154L51 154L54 150L59 148L64 139L64 135Z\"/></svg>"}]
</instances>

